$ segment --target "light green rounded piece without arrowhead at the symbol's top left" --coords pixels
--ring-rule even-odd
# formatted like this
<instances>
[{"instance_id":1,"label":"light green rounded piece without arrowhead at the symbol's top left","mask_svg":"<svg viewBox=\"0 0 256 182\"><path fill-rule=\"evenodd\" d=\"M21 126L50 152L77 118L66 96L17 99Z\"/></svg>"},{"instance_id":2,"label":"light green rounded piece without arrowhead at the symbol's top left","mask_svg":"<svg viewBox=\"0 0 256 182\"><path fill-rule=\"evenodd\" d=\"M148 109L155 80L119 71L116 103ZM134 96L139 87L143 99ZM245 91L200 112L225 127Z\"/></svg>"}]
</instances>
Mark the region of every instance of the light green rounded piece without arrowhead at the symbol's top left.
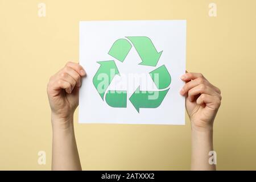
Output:
<instances>
[{"instance_id":1,"label":"light green rounded piece without arrowhead at the symbol's top left","mask_svg":"<svg viewBox=\"0 0 256 182\"><path fill-rule=\"evenodd\" d=\"M118 39L109 50L109 55L123 62L131 49L131 44L126 39Z\"/></svg>"}]
</instances>

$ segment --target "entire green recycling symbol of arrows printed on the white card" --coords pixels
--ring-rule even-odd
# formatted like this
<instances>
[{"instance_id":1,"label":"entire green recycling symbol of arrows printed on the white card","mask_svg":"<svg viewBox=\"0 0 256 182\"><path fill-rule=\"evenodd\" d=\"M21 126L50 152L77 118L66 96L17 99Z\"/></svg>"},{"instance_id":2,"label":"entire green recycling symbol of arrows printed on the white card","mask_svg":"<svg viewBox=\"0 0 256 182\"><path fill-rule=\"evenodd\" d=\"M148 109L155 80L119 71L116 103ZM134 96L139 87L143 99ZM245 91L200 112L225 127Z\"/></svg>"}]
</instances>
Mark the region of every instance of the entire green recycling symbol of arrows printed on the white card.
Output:
<instances>
[{"instance_id":1,"label":"entire green recycling symbol of arrows printed on the white card","mask_svg":"<svg viewBox=\"0 0 256 182\"><path fill-rule=\"evenodd\" d=\"M139 65L156 67L163 51L156 51L150 38L147 36L127 36L125 38L126 39L118 39L113 43L113 46L108 52L110 56L123 63L130 49L134 46L142 60ZM108 85L110 85L115 75L120 76L120 74L114 60L97 61L97 63L100 64L100 67L93 77L93 85L104 101L104 95L108 89ZM170 89L168 86L171 84L171 76L165 65L152 70L148 74L150 74L158 90L145 91L141 90L140 86L138 86L129 98L138 113L140 108L159 107ZM104 82L104 84L102 84L102 82ZM150 97L152 95L156 95L157 97ZM127 92L126 90L108 90L105 101L112 107L127 107Z\"/></svg>"}]
</instances>

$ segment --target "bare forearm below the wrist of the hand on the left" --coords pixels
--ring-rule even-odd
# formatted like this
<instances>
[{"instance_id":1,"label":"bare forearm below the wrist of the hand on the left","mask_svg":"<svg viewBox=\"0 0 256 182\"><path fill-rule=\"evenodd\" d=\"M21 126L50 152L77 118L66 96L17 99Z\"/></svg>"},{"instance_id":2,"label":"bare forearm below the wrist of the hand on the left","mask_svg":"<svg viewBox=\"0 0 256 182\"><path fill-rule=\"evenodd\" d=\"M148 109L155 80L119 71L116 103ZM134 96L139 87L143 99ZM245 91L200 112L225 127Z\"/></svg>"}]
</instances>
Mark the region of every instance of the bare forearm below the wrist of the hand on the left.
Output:
<instances>
[{"instance_id":1,"label":"bare forearm below the wrist of the hand on the left","mask_svg":"<svg viewBox=\"0 0 256 182\"><path fill-rule=\"evenodd\" d=\"M73 117L59 121L52 117L52 170L81 170Z\"/></svg>"}]
</instances>

